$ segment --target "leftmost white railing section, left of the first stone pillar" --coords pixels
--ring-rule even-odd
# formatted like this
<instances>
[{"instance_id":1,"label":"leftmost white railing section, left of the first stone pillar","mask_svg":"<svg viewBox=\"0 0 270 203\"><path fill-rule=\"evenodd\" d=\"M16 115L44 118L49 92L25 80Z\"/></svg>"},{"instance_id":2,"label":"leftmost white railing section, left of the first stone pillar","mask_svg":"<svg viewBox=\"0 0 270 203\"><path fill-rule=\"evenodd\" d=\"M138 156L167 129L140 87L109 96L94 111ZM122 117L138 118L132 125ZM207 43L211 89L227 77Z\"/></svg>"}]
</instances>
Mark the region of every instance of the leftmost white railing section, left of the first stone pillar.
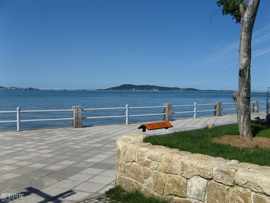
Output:
<instances>
[{"instance_id":1,"label":"leftmost white railing section, left of the first stone pillar","mask_svg":"<svg viewBox=\"0 0 270 203\"><path fill-rule=\"evenodd\" d=\"M21 120L21 113L48 113L48 112L73 112L73 109L61 109L61 110L26 110L26 111L21 111L20 110L20 107L18 107L16 111L0 111L0 114L1 113L17 113L17 120L0 121L0 123L17 123L17 131L21 131L21 122L73 120L73 118Z\"/></svg>"}]
</instances>

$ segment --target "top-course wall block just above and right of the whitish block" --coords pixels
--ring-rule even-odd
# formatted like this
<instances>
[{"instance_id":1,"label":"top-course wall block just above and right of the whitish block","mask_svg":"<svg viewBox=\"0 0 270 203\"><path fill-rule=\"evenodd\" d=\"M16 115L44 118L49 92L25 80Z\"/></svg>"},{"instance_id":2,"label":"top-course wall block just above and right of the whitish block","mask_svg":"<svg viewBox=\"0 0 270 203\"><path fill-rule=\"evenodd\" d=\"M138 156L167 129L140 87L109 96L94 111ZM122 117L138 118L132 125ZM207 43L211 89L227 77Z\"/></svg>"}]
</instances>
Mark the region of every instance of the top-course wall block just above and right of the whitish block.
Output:
<instances>
[{"instance_id":1,"label":"top-course wall block just above and right of the whitish block","mask_svg":"<svg viewBox=\"0 0 270 203\"><path fill-rule=\"evenodd\" d=\"M198 175L204 177L204 178L212 178L213 177L213 169L222 164L229 161L228 159L223 159L223 158L215 158L215 159L210 159L209 161L199 163L197 165L198 168Z\"/></svg>"}]
</instances>

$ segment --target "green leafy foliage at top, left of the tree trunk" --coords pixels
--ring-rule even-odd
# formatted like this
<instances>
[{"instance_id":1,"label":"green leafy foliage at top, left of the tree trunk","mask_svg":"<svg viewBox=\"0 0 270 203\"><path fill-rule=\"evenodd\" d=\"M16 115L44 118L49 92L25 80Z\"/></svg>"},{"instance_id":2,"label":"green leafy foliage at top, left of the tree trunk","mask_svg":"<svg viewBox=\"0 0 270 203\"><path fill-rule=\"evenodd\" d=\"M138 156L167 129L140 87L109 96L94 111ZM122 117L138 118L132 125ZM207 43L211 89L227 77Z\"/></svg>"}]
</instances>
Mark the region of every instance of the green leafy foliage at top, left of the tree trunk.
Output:
<instances>
[{"instance_id":1,"label":"green leafy foliage at top, left of the tree trunk","mask_svg":"<svg viewBox=\"0 0 270 203\"><path fill-rule=\"evenodd\" d=\"M239 5L242 4L245 9L247 9L247 4L245 4L245 0L220 0L217 1L216 4L222 8L222 14L228 15L230 14L232 17L232 20L235 19L236 23L241 22L241 12Z\"/></svg>"}]
</instances>

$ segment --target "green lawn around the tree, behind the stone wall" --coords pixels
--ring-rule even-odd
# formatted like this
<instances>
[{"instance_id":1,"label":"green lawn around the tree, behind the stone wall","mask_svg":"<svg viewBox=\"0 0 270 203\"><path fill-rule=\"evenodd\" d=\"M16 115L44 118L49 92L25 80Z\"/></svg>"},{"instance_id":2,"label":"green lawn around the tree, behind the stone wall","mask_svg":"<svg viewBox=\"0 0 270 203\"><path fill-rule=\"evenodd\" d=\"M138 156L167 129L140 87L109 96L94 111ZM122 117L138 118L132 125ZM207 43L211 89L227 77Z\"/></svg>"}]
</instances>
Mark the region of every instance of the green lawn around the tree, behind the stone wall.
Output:
<instances>
[{"instance_id":1,"label":"green lawn around the tree, behind the stone wall","mask_svg":"<svg viewBox=\"0 0 270 203\"><path fill-rule=\"evenodd\" d=\"M270 128L252 123L253 136L270 137ZM243 148L212 142L213 137L223 135L238 135L238 125L217 126L212 129L176 132L162 136L147 136L144 142L162 145L191 153L200 153L225 159L236 159L239 162L249 162L261 166L270 166L270 150L268 148Z\"/></svg>"}]
</instances>

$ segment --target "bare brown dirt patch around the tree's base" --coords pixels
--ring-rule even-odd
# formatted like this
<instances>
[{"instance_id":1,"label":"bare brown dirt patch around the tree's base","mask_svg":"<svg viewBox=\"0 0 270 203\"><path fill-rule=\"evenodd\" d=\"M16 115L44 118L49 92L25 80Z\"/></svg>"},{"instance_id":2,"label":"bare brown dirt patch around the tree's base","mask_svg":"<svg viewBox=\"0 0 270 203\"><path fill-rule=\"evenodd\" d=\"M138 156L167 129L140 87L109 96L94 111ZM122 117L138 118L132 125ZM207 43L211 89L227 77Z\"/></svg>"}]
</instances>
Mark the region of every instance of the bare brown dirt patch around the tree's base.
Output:
<instances>
[{"instance_id":1,"label":"bare brown dirt patch around the tree's base","mask_svg":"<svg viewBox=\"0 0 270 203\"><path fill-rule=\"evenodd\" d=\"M253 137L252 142L245 142L240 140L239 135L224 135L221 138L214 137L213 142L233 145L239 148L251 147L259 145L259 147L266 147L270 149L270 138L269 137Z\"/></svg>"}]
</instances>

